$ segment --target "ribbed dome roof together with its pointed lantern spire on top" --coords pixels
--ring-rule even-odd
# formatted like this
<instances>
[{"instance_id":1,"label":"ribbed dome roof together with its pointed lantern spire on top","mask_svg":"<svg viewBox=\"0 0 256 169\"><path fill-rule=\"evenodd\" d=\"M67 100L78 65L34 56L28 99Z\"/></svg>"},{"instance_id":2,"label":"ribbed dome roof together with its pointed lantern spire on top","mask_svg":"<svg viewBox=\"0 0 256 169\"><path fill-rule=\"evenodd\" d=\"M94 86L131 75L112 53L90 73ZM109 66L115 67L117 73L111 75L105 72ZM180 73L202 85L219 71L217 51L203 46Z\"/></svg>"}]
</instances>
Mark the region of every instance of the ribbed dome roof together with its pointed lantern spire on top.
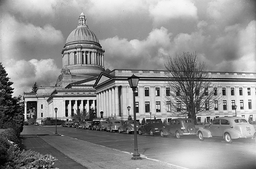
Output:
<instances>
[{"instance_id":1,"label":"ribbed dome roof together with its pointed lantern spire on top","mask_svg":"<svg viewBox=\"0 0 256 169\"><path fill-rule=\"evenodd\" d=\"M86 25L86 18L83 12L80 14L80 17L78 18L78 20L79 20L78 26L75 30L73 30L69 34L66 40L66 45L70 45L73 43L83 43L83 42L99 43L97 36Z\"/></svg>"}]
</instances>

